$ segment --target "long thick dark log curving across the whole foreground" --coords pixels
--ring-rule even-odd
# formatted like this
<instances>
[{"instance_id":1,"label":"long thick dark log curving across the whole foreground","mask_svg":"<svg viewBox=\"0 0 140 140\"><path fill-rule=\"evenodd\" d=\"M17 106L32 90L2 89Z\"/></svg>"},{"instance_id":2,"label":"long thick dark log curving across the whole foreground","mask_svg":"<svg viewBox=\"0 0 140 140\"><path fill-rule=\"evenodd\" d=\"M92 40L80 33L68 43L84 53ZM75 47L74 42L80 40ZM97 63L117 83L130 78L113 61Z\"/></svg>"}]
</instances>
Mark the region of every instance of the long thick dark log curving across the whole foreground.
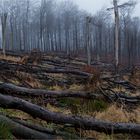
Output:
<instances>
[{"instance_id":1,"label":"long thick dark log curving across the whole foreground","mask_svg":"<svg viewBox=\"0 0 140 140\"><path fill-rule=\"evenodd\" d=\"M30 114L34 118L40 118L56 124L71 124L75 128L82 128L85 130L95 130L106 134L128 133L140 135L140 124L112 123L96 120L94 118L54 113L25 100L2 94L0 94L0 107L5 109L18 109Z\"/></svg>"}]
</instances>

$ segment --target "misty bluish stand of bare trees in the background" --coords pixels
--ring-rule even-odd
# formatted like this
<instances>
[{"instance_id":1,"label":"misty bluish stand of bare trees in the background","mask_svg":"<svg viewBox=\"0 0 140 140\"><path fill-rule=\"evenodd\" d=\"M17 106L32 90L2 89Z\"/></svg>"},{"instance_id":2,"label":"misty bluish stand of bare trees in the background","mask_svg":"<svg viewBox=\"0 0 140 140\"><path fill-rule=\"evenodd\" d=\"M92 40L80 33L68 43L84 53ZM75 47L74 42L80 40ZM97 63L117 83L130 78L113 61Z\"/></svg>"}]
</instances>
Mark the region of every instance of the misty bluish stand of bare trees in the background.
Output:
<instances>
[{"instance_id":1,"label":"misty bluish stand of bare trees in the background","mask_svg":"<svg viewBox=\"0 0 140 140\"><path fill-rule=\"evenodd\" d=\"M88 44L92 59L113 60L113 11L101 9L92 15L79 10L70 0L0 0L0 3L1 48L5 45L6 50L25 52L37 48L43 52L86 56ZM129 66L140 60L140 18L131 16L133 9L130 6L120 10L120 63Z\"/></svg>"}]
</instances>

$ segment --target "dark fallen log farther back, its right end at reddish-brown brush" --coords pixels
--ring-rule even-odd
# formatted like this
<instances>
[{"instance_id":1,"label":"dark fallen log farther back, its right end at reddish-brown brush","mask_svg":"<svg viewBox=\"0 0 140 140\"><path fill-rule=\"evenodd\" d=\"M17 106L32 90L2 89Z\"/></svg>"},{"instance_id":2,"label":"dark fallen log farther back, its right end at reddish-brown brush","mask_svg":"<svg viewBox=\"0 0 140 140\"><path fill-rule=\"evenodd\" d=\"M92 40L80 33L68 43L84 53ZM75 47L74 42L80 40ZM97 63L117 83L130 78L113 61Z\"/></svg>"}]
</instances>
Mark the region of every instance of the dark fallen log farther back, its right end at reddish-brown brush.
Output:
<instances>
[{"instance_id":1,"label":"dark fallen log farther back, its right end at reddish-brown brush","mask_svg":"<svg viewBox=\"0 0 140 140\"><path fill-rule=\"evenodd\" d=\"M91 74L91 73L83 72L78 69L70 70L69 67L68 67L68 69L66 69L66 68L48 69L43 66L36 66L36 65L31 65L31 64L24 65L24 64L10 63L7 61L0 61L0 70L5 71L7 73L15 72L15 71L25 72L25 73L34 74L34 75L41 75L42 77L45 77L45 78L46 78L47 74L68 74L68 75L71 74L74 76L78 76L78 77L76 77L77 79L83 79L83 80L88 80L90 77L93 76L93 74ZM100 78L102 80L108 80L111 77L102 77L101 76Z\"/></svg>"}]
</instances>

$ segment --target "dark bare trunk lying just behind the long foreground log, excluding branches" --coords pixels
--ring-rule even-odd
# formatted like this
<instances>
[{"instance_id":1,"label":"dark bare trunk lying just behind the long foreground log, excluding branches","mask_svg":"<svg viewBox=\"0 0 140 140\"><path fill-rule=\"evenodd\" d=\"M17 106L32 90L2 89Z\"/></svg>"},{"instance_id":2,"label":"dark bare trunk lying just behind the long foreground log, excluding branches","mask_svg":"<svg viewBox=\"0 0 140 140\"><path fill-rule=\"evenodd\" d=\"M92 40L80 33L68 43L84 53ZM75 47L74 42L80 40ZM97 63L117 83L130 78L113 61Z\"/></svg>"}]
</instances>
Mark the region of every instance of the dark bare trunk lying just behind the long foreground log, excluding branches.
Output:
<instances>
[{"instance_id":1,"label":"dark bare trunk lying just behind the long foreground log, excluding branches","mask_svg":"<svg viewBox=\"0 0 140 140\"><path fill-rule=\"evenodd\" d=\"M62 98L62 97L74 97L84 99L99 99L103 96L99 94L89 92L72 92L72 91L50 91L43 89L29 89L25 87L19 87L10 83L0 84L0 92L4 94L20 95L20 96L31 96L31 97L46 97L46 98Z\"/></svg>"}]
</instances>

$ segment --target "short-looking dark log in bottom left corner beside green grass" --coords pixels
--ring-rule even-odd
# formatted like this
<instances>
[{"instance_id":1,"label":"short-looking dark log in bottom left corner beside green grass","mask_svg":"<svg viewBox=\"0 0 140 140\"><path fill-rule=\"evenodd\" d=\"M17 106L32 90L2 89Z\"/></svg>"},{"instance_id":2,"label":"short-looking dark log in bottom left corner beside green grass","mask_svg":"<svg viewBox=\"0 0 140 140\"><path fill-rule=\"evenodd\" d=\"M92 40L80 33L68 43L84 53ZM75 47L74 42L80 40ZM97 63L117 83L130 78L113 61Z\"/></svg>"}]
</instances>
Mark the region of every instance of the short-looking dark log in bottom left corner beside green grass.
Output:
<instances>
[{"instance_id":1,"label":"short-looking dark log in bottom left corner beside green grass","mask_svg":"<svg viewBox=\"0 0 140 140\"><path fill-rule=\"evenodd\" d=\"M56 136L52 136L50 134L45 134L43 132L39 132L37 130L33 130L28 128L22 124L14 122L13 120L0 115L0 123L4 123L7 125L11 131L11 133L18 138L24 139L54 139Z\"/></svg>"}]
</instances>

